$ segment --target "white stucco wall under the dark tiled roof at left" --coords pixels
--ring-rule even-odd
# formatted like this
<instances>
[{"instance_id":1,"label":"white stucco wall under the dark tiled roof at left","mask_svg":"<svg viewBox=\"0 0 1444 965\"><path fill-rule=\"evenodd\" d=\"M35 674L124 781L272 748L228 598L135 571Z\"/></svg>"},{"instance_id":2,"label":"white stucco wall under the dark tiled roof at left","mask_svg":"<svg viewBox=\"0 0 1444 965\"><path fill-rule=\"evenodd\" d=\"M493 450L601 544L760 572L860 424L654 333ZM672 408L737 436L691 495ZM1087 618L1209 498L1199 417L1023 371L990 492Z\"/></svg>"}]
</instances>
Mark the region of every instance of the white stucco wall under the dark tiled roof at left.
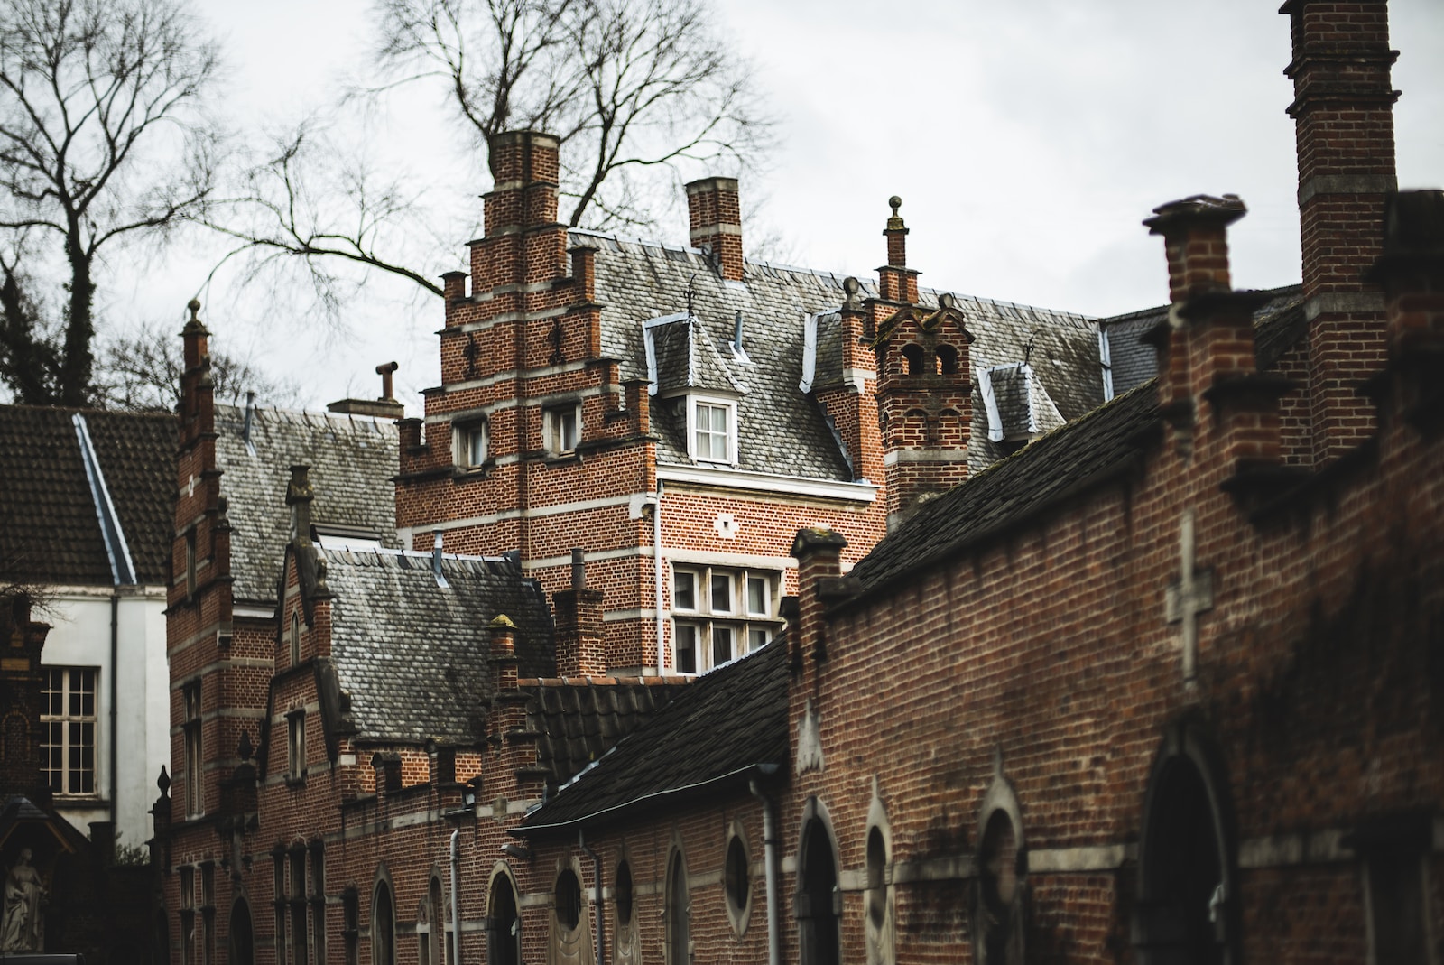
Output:
<instances>
[{"instance_id":1,"label":"white stucco wall under the dark tiled roof at left","mask_svg":"<svg viewBox=\"0 0 1444 965\"><path fill-rule=\"evenodd\" d=\"M82 834L90 822L110 821L111 741L116 745L116 831L120 844L140 847L152 832L160 766L170 758L170 675L166 666L165 589L121 587L117 591L116 654L110 652L110 587L52 588L51 624L40 662L45 666L97 667L94 797L56 797L56 809ZM114 686L113 686L114 685ZM111 721L111 695L116 718Z\"/></svg>"}]
</instances>

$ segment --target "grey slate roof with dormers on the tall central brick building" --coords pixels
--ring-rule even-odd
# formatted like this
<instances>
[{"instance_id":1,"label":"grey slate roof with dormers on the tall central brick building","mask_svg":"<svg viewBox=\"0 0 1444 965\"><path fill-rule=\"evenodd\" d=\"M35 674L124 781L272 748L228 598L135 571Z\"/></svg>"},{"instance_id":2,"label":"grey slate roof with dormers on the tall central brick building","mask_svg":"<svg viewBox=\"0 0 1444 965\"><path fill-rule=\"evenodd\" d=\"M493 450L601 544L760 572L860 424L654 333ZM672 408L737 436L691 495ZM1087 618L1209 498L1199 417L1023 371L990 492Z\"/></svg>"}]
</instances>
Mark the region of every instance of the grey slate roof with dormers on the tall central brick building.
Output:
<instances>
[{"instance_id":1,"label":"grey slate roof with dormers on the tall central brick building","mask_svg":"<svg viewBox=\"0 0 1444 965\"><path fill-rule=\"evenodd\" d=\"M621 363L624 378L647 377L643 325L692 315L699 337L710 339L715 360L731 381L745 387L738 399L738 468L754 472L851 481L852 471L817 402L799 389L803 374L803 319L842 305L842 274L747 261L744 282L723 282L702 251L692 247L632 241L573 230L570 243L596 248L596 300L602 305L602 354ZM877 295L862 282L862 298ZM937 292L920 292L936 306ZM972 364L1031 361L1040 383L1064 419L1103 400L1097 358L1097 326L1070 312L957 296L966 316ZM736 313L742 313L742 354L734 354ZM708 357L712 364L712 357ZM814 386L840 374L842 352L835 325L819 325ZM973 410L982 412L973 399ZM683 400L654 403L660 436L657 459L689 465ZM985 433L975 433L969 462L979 471L1002 455ZM881 480L872 480L879 482Z\"/></svg>"}]
</instances>

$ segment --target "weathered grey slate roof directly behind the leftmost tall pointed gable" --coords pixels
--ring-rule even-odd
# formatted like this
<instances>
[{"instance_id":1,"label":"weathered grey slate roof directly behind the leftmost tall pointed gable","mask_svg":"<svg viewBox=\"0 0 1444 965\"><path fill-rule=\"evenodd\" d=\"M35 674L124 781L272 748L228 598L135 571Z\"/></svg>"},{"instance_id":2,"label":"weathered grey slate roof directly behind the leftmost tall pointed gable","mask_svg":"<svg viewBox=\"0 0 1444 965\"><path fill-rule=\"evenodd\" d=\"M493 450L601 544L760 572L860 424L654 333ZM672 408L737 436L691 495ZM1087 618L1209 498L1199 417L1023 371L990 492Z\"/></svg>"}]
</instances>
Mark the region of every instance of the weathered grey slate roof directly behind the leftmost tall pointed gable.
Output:
<instances>
[{"instance_id":1,"label":"weathered grey slate roof directly behind the leftmost tall pointed gable","mask_svg":"<svg viewBox=\"0 0 1444 965\"><path fill-rule=\"evenodd\" d=\"M315 524L374 533L383 546L396 537L399 465L394 422L322 412L256 409L250 443L245 409L215 407L215 462L228 500L232 592L237 601L274 602L282 550L290 539L286 484L292 465L309 465L316 493Z\"/></svg>"}]
</instances>

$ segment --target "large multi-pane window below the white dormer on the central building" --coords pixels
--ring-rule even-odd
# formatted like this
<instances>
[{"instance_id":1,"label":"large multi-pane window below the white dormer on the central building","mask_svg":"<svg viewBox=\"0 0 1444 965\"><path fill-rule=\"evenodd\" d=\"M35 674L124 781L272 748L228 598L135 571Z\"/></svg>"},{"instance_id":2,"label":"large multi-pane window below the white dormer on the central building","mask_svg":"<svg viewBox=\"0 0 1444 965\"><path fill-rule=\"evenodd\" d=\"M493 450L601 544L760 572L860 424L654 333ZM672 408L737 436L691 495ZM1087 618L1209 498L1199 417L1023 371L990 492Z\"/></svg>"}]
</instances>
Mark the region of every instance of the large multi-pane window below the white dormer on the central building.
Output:
<instances>
[{"instance_id":1,"label":"large multi-pane window below the white dormer on the central building","mask_svg":"<svg viewBox=\"0 0 1444 965\"><path fill-rule=\"evenodd\" d=\"M673 669L706 673L771 640L780 626L774 610L780 579L765 569L674 566Z\"/></svg>"}]
</instances>

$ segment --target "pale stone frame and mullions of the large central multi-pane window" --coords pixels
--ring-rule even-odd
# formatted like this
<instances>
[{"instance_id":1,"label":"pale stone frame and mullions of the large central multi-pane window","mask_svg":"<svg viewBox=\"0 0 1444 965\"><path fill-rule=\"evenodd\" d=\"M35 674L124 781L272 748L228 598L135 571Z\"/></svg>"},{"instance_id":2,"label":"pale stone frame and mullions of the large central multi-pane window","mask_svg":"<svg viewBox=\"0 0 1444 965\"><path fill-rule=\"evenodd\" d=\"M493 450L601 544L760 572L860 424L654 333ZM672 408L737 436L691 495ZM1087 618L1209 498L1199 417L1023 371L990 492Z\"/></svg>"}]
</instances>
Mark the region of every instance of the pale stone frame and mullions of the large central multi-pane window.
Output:
<instances>
[{"instance_id":1,"label":"pale stone frame and mullions of the large central multi-pane window","mask_svg":"<svg viewBox=\"0 0 1444 965\"><path fill-rule=\"evenodd\" d=\"M692 607L679 605L679 576L692 578ZM731 581L729 595L731 610L713 607L712 582L715 576L725 576ZM748 604L751 582L760 581L764 585L765 601L762 611L752 611ZM736 660L752 650L758 650L777 636L781 620L775 615L780 600L783 574L777 569L761 566L712 566L709 563L671 565L669 581L671 614L671 657L673 669L677 673L708 673L722 663ZM732 641L728 644L728 660L716 660L715 628L722 627L732 631ZM693 631L687 634L687 631ZM690 636L692 669L683 669L683 639Z\"/></svg>"}]
</instances>

